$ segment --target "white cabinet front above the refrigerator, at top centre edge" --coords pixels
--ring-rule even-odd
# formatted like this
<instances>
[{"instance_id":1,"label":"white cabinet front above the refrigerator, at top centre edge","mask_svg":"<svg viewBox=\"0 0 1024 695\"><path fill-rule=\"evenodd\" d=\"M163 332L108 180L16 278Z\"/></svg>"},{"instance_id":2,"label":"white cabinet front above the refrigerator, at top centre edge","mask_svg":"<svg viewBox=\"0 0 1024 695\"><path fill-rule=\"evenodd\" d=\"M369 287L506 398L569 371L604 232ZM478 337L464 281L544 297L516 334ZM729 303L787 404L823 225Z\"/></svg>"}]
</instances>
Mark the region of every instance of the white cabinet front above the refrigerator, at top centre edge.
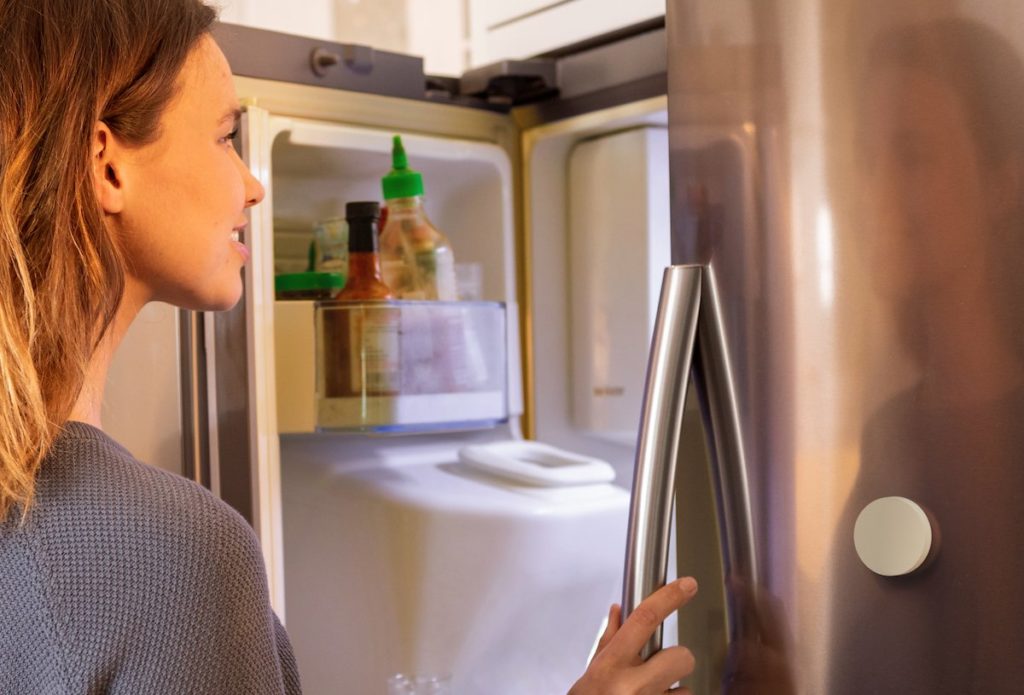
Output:
<instances>
[{"instance_id":1,"label":"white cabinet front above the refrigerator, at top centre edge","mask_svg":"<svg viewBox=\"0 0 1024 695\"><path fill-rule=\"evenodd\" d=\"M470 62L525 58L665 15L665 0L469 0Z\"/></svg>"}]
</instances>

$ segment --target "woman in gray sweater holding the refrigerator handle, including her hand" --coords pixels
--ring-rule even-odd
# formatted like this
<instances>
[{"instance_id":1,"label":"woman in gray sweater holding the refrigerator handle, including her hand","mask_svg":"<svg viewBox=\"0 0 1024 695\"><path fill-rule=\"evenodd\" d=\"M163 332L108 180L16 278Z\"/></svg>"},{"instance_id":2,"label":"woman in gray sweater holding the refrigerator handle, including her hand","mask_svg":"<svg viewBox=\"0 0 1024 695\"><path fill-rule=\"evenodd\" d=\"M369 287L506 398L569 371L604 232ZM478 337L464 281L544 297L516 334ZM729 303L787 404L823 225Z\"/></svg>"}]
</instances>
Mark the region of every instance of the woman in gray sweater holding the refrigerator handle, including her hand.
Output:
<instances>
[{"instance_id":1,"label":"woman in gray sweater holding the refrigerator handle, including her hand","mask_svg":"<svg viewBox=\"0 0 1024 695\"><path fill-rule=\"evenodd\" d=\"M263 188L198 0L0 0L0 692L298 693L255 535L103 434L102 388L151 301L242 294ZM577 695L665 692L666 587L609 628ZM682 692L682 691L679 691Z\"/></svg>"}]
</instances>

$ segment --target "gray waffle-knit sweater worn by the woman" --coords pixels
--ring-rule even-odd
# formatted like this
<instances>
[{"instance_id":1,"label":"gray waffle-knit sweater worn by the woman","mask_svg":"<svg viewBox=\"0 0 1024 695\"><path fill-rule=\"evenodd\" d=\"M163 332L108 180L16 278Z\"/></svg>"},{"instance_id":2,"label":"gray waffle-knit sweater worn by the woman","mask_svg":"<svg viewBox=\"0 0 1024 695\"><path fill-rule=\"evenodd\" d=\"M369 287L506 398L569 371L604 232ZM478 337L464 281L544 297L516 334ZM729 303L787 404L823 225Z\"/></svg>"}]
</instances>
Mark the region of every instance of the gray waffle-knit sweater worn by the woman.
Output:
<instances>
[{"instance_id":1,"label":"gray waffle-knit sweater worn by the woman","mask_svg":"<svg viewBox=\"0 0 1024 695\"><path fill-rule=\"evenodd\" d=\"M245 520L69 423L0 524L2 695L299 693Z\"/></svg>"}]
</instances>

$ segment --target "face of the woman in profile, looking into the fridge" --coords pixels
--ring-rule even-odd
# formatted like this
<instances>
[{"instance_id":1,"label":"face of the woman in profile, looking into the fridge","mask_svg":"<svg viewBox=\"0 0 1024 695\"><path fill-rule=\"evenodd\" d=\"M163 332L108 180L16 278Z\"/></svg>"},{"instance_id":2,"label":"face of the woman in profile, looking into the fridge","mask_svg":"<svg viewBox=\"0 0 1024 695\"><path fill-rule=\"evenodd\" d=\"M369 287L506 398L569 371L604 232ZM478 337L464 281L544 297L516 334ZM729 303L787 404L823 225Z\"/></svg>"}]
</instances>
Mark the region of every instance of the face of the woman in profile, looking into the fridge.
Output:
<instances>
[{"instance_id":1,"label":"face of the woman in profile, looking into the fridge","mask_svg":"<svg viewBox=\"0 0 1024 695\"><path fill-rule=\"evenodd\" d=\"M232 146L239 101L230 69L210 37L193 50L158 138L125 154L116 223L127 291L144 303L219 310L242 296L249 257L238 232L263 199Z\"/></svg>"}]
</instances>

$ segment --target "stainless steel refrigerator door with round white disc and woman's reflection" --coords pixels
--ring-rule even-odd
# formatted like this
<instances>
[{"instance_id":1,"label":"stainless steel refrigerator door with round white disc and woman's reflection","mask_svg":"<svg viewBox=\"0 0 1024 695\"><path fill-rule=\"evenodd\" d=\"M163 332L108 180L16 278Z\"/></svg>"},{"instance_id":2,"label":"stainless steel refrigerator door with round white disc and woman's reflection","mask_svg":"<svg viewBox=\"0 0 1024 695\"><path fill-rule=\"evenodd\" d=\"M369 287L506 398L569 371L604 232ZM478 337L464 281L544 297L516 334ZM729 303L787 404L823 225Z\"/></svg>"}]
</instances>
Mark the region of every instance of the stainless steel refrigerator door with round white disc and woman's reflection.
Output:
<instances>
[{"instance_id":1,"label":"stainless steel refrigerator door with round white disc and woman's reflection","mask_svg":"<svg viewBox=\"0 0 1024 695\"><path fill-rule=\"evenodd\" d=\"M1024 7L667 23L674 262L713 271L758 559L726 577L727 656L682 615L717 669L697 692L1021 692ZM854 545L888 496L934 531L903 576Z\"/></svg>"}]
</instances>

